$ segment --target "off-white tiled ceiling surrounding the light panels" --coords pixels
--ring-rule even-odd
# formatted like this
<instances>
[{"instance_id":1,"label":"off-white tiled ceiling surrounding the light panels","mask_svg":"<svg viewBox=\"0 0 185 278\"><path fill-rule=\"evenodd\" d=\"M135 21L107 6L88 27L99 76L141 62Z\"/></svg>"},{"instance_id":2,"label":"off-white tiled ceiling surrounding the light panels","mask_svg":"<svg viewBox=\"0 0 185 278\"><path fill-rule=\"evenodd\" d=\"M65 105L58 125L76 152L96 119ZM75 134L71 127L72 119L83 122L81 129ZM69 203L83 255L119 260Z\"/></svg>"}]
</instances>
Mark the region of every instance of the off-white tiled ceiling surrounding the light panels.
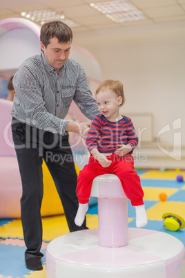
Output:
<instances>
[{"instance_id":1,"label":"off-white tiled ceiling surrounding the light panels","mask_svg":"<svg viewBox=\"0 0 185 278\"><path fill-rule=\"evenodd\" d=\"M0 0L0 20L21 17L21 12L30 10L52 9L80 25L72 28L73 33L185 20L185 0L130 0L147 19L123 24L111 21L89 5L100 1L110 0Z\"/></svg>"}]
</instances>

